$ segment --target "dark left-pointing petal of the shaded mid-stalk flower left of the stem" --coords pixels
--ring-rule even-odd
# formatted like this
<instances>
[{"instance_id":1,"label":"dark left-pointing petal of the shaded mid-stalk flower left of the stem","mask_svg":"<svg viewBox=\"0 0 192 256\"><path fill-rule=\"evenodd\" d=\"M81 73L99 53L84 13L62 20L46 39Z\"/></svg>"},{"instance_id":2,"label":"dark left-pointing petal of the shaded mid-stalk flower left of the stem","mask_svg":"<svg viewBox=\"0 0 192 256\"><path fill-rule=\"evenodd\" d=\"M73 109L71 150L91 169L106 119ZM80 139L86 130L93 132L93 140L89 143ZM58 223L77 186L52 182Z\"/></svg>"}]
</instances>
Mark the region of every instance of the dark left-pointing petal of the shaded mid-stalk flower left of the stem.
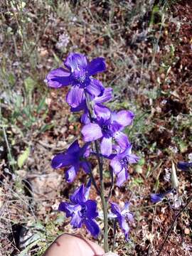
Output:
<instances>
[{"instance_id":1,"label":"dark left-pointing petal of the shaded mid-stalk flower left of the stem","mask_svg":"<svg viewBox=\"0 0 192 256\"><path fill-rule=\"evenodd\" d=\"M56 154L51 160L51 166L53 169L62 168L64 166L70 166L75 161L75 157L71 154Z\"/></svg>"}]
</instances>

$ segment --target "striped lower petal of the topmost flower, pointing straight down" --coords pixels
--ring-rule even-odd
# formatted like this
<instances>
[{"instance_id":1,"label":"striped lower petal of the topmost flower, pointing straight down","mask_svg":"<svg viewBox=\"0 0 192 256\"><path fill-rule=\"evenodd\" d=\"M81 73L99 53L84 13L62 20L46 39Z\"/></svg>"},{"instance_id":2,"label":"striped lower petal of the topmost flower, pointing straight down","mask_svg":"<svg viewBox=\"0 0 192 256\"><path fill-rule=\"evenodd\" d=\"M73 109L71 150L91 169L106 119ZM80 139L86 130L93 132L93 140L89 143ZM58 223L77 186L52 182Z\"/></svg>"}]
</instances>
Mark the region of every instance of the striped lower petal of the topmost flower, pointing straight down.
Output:
<instances>
[{"instance_id":1,"label":"striped lower petal of the topmost flower, pointing straight down","mask_svg":"<svg viewBox=\"0 0 192 256\"><path fill-rule=\"evenodd\" d=\"M74 85L70 88L70 91L66 96L66 101L68 102L68 105L70 105L70 107L78 107L78 105L82 103L84 98L84 89Z\"/></svg>"}]
</instances>

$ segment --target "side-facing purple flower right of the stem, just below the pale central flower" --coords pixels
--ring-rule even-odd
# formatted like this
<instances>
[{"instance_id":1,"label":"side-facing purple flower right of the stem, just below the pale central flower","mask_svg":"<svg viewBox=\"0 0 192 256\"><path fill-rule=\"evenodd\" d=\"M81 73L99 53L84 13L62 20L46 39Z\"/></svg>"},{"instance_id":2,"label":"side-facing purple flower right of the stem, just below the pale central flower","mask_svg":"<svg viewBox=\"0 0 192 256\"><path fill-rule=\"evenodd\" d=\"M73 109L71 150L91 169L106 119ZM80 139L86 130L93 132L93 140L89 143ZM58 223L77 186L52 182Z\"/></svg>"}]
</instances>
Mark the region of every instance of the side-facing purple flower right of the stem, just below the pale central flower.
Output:
<instances>
[{"instance_id":1,"label":"side-facing purple flower right of the stem, just below the pale central flower","mask_svg":"<svg viewBox=\"0 0 192 256\"><path fill-rule=\"evenodd\" d=\"M117 150L119 151L119 147L117 147ZM128 164L136 164L138 160L139 157L132 154L131 144L124 151L114 155L112 161L110 161L110 166L112 166L114 174L117 175L117 186L122 186L122 183L129 178Z\"/></svg>"}]
</instances>

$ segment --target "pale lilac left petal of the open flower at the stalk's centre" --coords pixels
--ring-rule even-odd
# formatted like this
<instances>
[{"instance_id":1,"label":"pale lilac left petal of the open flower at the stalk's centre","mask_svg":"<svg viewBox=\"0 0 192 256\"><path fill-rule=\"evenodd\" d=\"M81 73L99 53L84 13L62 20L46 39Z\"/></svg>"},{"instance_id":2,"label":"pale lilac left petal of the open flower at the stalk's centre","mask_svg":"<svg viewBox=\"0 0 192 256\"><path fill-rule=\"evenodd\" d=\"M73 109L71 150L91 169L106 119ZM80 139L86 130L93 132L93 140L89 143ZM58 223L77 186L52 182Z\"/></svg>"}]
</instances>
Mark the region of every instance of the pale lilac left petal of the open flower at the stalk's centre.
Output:
<instances>
[{"instance_id":1,"label":"pale lilac left petal of the open flower at the stalk's centre","mask_svg":"<svg viewBox=\"0 0 192 256\"><path fill-rule=\"evenodd\" d=\"M82 135L85 142L92 142L95 139L100 139L102 137L102 129L98 124L85 124L82 127Z\"/></svg>"}]
</instances>

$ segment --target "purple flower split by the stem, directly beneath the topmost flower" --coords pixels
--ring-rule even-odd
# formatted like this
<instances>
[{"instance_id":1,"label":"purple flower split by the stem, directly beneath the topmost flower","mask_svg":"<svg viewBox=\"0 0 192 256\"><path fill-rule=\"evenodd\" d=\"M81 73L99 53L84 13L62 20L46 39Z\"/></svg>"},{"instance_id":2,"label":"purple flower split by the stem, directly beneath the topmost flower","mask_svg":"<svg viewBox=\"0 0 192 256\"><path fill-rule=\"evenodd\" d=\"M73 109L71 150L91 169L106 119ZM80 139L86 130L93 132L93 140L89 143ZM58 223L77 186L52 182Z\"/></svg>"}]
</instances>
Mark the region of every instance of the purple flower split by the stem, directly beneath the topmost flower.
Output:
<instances>
[{"instance_id":1,"label":"purple flower split by the stem, directly beneath the topmost flower","mask_svg":"<svg viewBox=\"0 0 192 256\"><path fill-rule=\"evenodd\" d=\"M101 103L107 102L108 100L112 99L112 88L108 87L105 88L103 95L99 97L90 97L90 102L92 104L94 114L97 112L102 112L102 110L105 110L105 106L102 106ZM83 100L82 103L78 107L71 107L70 109L72 112L79 112L81 110L84 111L81 117L82 124L88 124L90 123L90 117L88 112L88 107L86 100Z\"/></svg>"}]
</instances>

